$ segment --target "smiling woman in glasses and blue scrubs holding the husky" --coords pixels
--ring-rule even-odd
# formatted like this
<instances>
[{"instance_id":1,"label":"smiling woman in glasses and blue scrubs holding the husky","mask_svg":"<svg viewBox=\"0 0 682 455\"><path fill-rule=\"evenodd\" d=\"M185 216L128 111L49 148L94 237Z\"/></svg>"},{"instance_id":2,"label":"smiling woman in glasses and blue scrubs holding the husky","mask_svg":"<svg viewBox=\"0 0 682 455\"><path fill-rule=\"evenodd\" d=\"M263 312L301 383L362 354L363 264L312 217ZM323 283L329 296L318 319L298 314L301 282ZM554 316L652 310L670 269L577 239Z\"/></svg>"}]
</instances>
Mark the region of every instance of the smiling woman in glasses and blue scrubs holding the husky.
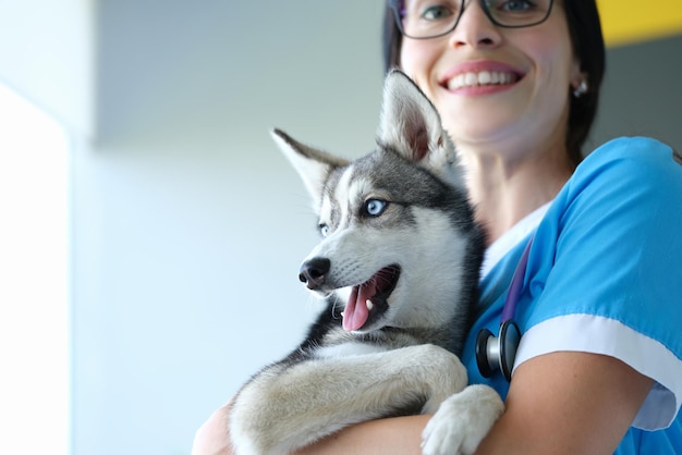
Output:
<instances>
[{"instance_id":1,"label":"smiling woman in glasses and blue scrubs holding the husky","mask_svg":"<svg viewBox=\"0 0 682 455\"><path fill-rule=\"evenodd\" d=\"M619 138L583 160L605 71L595 1L428 3L388 2L385 57L439 110L488 233L462 358L507 410L477 453L682 453L682 158ZM531 237L511 382L484 378L477 335L497 335ZM418 454L428 418L361 423L304 452ZM223 407L198 430L194 455L230 453L226 420Z\"/></svg>"}]
</instances>

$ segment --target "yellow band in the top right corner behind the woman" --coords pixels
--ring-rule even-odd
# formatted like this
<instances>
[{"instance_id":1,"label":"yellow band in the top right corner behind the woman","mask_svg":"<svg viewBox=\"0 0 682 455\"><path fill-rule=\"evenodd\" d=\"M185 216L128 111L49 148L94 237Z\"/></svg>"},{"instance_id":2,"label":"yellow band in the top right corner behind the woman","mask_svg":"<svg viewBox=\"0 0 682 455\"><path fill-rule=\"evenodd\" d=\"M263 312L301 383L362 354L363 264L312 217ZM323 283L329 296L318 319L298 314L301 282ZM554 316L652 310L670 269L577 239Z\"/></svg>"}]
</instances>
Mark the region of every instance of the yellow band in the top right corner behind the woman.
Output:
<instances>
[{"instance_id":1,"label":"yellow band in the top right corner behind the woman","mask_svg":"<svg viewBox=\"0 0 682 455\"><path fill-rule=\"evenodd\" d=\"M682 34L682 0L597 0L597 5L607 46Z\"/></svg>"}]
</instances>

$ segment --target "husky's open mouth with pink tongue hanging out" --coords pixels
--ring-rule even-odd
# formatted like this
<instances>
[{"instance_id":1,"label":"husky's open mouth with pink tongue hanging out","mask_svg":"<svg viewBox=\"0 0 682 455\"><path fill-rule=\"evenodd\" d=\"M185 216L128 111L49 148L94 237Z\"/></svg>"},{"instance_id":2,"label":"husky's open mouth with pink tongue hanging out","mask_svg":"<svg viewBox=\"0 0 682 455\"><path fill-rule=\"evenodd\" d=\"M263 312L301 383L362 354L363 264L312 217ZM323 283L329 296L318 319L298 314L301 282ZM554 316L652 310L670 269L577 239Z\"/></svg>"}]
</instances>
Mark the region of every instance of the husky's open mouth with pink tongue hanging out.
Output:
<instances>
[{"instance_id":1,"label":"husky's open mouth with pink tongue hanging out","mask_svg":"<svg viewBox=\"0 0 682 455\"><path fill-rule=\"evenodd\" d=\"M345 309L343 329L362 329L369 319L375 319L388 309L388 297L400 278L400 267L389 266L379 270L369 280L353 286Z\"/></svg>"}]
</instances>

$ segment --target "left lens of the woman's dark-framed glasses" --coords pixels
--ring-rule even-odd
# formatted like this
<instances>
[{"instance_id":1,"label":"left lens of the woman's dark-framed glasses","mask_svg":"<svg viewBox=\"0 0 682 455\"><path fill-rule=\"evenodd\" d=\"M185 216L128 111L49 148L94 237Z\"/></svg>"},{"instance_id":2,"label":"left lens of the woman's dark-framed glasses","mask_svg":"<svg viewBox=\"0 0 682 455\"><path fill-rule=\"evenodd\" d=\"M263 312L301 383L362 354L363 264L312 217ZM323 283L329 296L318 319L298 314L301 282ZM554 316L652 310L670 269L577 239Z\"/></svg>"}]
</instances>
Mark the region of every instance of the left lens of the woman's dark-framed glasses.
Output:
<instances>
[{"instance_id":1,"label":"left lens of the woman's dark-framed glasses","mask_svg":"<svg viewBox=\"0 0 682 455\"><path fill-rule=\"evenodd\" d=\"M461 0L406 0L400 17L402 32L412 38L431 38L449 33L460 17Z\"/></svg>"}]
</instances>

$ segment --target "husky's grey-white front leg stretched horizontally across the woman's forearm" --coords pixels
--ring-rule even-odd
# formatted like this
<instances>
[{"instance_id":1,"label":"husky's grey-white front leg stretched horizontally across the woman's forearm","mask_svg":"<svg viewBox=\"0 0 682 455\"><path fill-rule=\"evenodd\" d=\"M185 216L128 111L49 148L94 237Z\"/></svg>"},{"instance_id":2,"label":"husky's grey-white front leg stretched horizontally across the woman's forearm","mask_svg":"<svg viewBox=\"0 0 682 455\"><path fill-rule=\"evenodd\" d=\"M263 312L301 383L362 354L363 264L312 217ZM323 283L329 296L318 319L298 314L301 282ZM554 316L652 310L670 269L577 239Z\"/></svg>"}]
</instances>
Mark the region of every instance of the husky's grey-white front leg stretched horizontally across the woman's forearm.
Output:
<instances>
[{"instance_id":1,"label":"husky's grey-white front leg stretched horizontally across the woman's forearm","mask_svg":"<svg viewBox=\"0 0 682 455\"><path fill-rule=\"evenodd\" d=\"M276 365L238 394L230 432L240 455L284 454L349 425L437 407L465 384L460 360L434 345Z\"/></svg>"}]
</instances>

